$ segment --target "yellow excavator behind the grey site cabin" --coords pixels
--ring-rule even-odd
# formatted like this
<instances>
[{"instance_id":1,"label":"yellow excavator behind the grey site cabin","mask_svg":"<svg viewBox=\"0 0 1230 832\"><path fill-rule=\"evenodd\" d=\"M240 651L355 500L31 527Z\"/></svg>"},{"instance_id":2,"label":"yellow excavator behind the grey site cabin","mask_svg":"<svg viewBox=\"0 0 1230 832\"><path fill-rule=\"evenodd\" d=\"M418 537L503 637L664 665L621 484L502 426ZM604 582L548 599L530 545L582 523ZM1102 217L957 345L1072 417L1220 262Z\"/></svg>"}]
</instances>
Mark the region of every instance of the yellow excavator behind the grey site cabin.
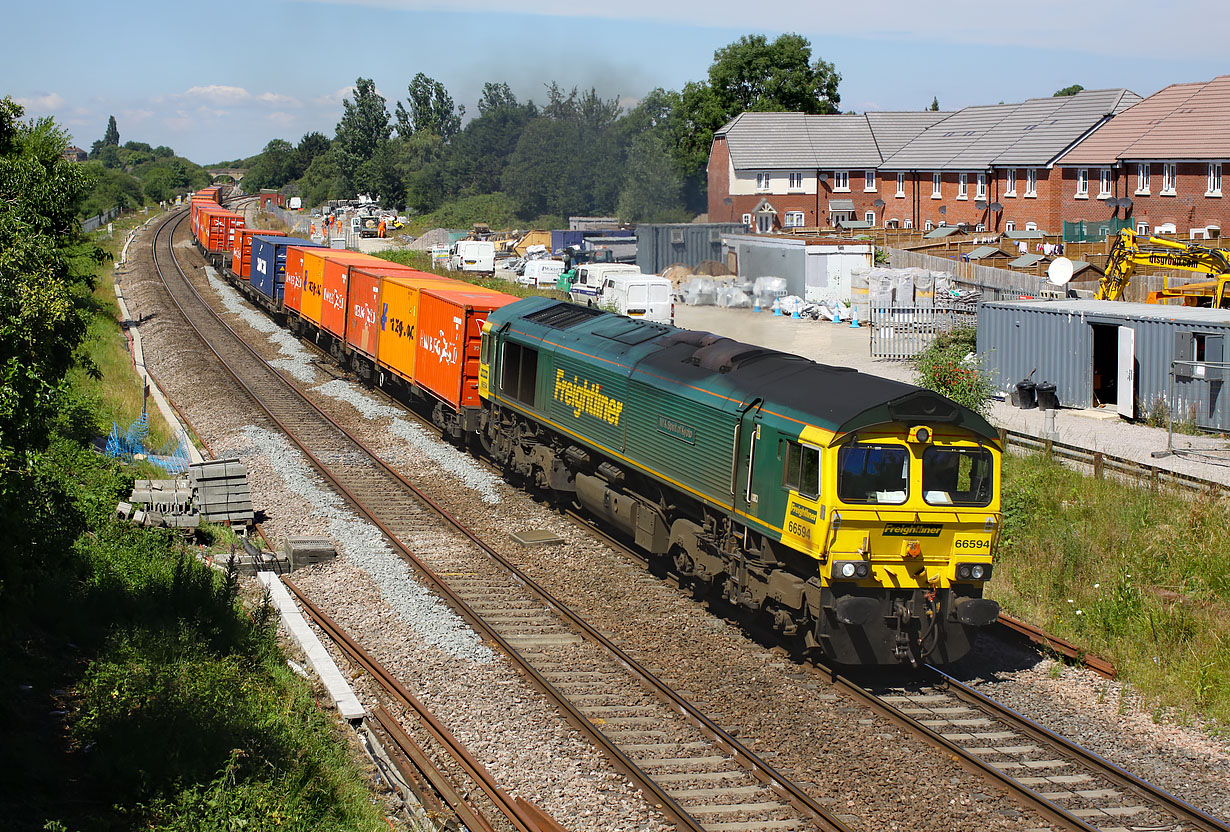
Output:
<instances>
[{"instance_id":1,"label":"yellow excavator behind the grey site cabin","mask_svg":"<svg viewBox=\"0 0 1230 832\"><path fill-rule=\"evenodd\" d=\"M1159 292L1150 292L1148 303L1182 300L1184 306L1230 309L1230 256L1220 249L1194 246L1156 236L1138 236L1132 229L1119 231L1111 249L1106 274L1098 281L1098 300L1121 300L1137 266L1180 268L1184 272L1209 274L1212 279L1171 286L1167 278Z\"/></svg>"}]
</instances>

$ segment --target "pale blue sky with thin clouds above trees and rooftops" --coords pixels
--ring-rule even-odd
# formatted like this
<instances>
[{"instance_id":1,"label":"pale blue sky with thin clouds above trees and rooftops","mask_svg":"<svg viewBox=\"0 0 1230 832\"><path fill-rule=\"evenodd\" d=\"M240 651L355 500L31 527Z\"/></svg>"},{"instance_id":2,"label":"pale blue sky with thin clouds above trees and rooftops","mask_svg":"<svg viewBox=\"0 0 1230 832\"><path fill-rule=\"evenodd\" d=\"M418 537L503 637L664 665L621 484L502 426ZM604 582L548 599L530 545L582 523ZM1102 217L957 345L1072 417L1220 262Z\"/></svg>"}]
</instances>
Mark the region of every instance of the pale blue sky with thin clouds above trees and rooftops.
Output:
<instances>
[{"instance_id":1,"label":"pale blue sky with thin clouds above trees and rooftops","mask_svg":"<svg viewBox=\"0 0 1230 832\"><path fill-rule=\"evenodd\" d=\"M165 144L200 164L267 142L333 135L357 78L389 112L417 73L476 114L485 81L541 102L545 85L635 105L706 78L744 34L797 32L841 74L844 111L942 110L1127 87L1148 96L1226 71L1202 32L1225 0L0 0L9 37L0 96L52 116L89 149L113 114L121 142ZM1183 32L1192 34L1184 36ZM14 37L16 36L16 37Z\"/></svg>"}]
</instances>

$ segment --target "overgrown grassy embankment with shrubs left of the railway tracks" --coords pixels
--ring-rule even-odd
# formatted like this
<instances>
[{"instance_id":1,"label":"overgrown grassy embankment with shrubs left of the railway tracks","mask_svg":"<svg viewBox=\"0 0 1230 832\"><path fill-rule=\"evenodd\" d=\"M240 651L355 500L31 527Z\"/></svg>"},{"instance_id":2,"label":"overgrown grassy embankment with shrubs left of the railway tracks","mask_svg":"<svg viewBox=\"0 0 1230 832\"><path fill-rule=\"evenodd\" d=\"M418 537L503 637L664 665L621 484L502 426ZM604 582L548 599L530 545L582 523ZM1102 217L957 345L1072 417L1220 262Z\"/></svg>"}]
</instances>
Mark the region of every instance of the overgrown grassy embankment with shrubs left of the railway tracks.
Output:
<instances>
[{"instance_id":1,"label":"overgrown grassy embankment with shrubs left of the railway tracks","mask_svg":"<svg viewBox=\"0 0 1230 832\"><path fill-rule=\"evenodd\" d=\"M139 414L140 384L111 277L87 304L98 377L74 375L15 527L31 544L0 607L0 826L386 828L271 608L176 534L112 519L134 471L86 439Z\"/></svg>"}]
</instances>

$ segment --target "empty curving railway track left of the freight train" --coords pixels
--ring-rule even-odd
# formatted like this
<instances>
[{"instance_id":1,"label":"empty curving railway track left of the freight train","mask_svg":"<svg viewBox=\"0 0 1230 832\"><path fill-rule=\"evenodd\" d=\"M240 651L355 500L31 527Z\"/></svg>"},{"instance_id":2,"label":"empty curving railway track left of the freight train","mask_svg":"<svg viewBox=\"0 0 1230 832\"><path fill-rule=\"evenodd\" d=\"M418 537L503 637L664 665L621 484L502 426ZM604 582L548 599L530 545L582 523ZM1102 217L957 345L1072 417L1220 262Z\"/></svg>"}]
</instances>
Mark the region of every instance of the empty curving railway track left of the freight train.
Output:
<instances>
[{"instance_id":1,"label":"empty curving railway track left of the freight train","mask_svg":"<svg viewBox=\"0 0 1230 832\"><path fill-rule=\"evenodd\" d=\"M330 485L384 533L397 554L504 652L651 804L679 828L696 832L849 828L269 367L187 279L170 245L178 222L169 220L155 235L155 266L172 302L236 384ZM167 241L162 257L160 238ZM449 543L432 546L428 562L411 546L419 538L438 539L442 519L454 534Z\"/></svg>"}]
</instances>

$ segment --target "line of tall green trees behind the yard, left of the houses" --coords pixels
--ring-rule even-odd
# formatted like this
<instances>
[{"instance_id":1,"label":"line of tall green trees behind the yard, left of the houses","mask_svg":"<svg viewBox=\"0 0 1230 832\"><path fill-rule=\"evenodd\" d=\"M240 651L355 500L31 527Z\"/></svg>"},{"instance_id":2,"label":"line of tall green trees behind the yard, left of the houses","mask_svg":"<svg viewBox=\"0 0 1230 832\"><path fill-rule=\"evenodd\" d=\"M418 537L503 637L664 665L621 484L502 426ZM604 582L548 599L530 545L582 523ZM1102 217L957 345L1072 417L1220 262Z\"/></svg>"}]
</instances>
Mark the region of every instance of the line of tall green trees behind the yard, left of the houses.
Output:
<instances>
[{"instance_id":1,"label":"line of tall green trees behind the yard, left of the houses","mask_svg":"<svg viewBox=\"0 0 1230 832\"><path fill-rule=\"evenodd\" d=\"M491 81L466 121L445 86L419 73L390 113L360 78L332 139L274 139L235 164L248 169L245 190L299 193L308 204L367 193L421 214L471 207L496 224L686 219L705 210L715 130L745 111L839 112L840 80L800 34L744 36L713 54L705 80L656 89L630 107L557 82L539 102L522 101Z\"/></svg>"}]
</instances>

